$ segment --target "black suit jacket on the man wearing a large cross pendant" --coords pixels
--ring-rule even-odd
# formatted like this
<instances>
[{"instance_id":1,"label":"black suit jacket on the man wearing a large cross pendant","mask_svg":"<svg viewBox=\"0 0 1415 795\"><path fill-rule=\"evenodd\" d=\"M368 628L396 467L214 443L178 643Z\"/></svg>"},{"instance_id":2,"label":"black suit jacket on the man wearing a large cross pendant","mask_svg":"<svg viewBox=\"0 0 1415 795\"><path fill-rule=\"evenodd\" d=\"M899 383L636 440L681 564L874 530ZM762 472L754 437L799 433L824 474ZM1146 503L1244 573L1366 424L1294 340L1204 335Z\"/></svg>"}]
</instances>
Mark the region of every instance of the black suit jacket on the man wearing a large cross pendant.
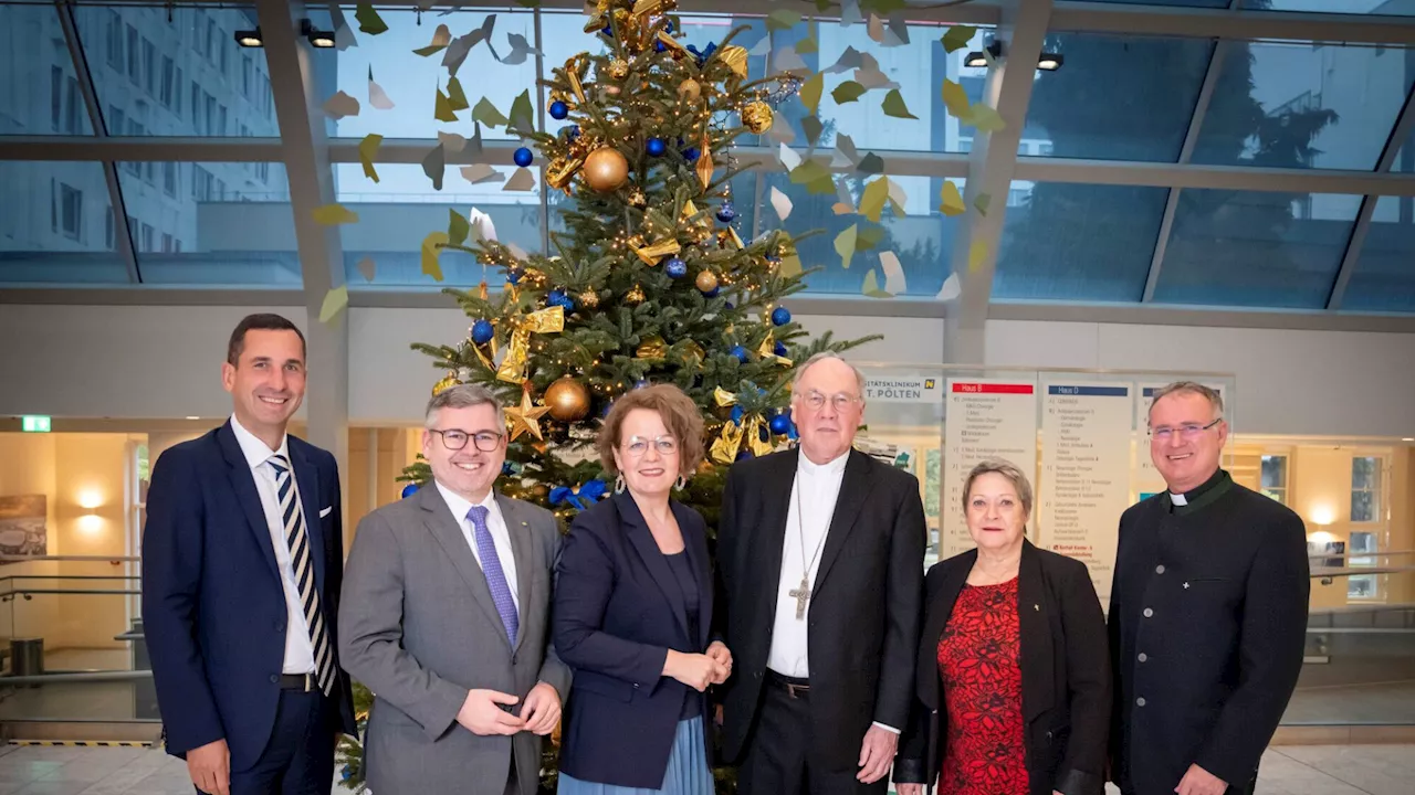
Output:
<instances>
[{"instance_id":1,"label":"black suit jacket on the man wearing a large cross pendant","mask_svg":"<svg viewBox=\"0 0 1415 795\"><path fill-rule=\"evenodd\" d=\"M717 529L717 621L732 649L723 753L740 757L771 649L798 450L732 467ZM857 770L870 723L903 729L913 700L924 580L914 475L850 451L809 601L811 758Z\"/></svg>"}]
</instances>

